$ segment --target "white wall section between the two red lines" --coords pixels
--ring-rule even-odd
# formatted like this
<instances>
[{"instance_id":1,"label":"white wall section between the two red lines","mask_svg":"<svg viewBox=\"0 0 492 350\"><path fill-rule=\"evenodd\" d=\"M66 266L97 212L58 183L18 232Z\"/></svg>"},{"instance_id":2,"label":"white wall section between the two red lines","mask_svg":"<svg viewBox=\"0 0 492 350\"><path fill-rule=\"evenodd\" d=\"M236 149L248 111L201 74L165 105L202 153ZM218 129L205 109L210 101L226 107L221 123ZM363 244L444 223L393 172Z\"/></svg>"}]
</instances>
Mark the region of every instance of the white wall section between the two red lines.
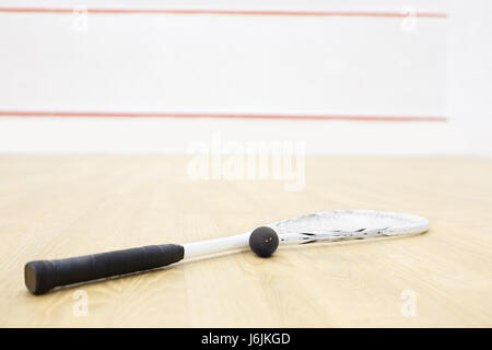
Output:
<instances>
[{"instance_id":1,"label":"white wall section between the two red lines","mask_svg":"<svg viewBox=\"0 0 492 350\"><path fill-rule=\"evenodd\" d=\"M3 110L445 113L445 19L89 13L80 32L70 13L0 18Z\"/></svg>"}]
</instances>

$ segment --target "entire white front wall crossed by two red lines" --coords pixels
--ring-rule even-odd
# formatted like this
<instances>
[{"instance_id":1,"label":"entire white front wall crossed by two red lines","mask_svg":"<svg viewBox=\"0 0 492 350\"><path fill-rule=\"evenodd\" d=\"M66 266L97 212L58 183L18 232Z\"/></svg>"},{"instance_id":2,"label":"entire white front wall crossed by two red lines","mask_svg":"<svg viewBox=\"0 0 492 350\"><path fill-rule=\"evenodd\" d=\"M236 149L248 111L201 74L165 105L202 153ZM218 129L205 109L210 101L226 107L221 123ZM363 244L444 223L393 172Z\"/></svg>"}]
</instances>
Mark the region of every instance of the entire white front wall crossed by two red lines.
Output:
<instances>
[{"instance_id":1,"label":"entire white front wall crossed by two red lines","mask_svg":"<svg viewBox=\"0 0 492 350\"><path fill-rule=\"evenodd\" d=\"M138 7L449 10L447 1L427 2L291 0L248 1L245 7L243 1L142 1ZM78 2L38 1L36 7L70 3ZM132 1L85 3L90 9L137 7ZM32 2L1 3L23 4ZM411 19L401 18L90 12L87 31L73 28L77 19L70 13L0 12L0 151L184 152L213 132L231 140L301 140L311 153L456 154L482 149L469 147L462 122L454 122L455 116L462 121L464 113L450 110L458 100L449 95L459 94L453 86L461 86L462 80L455 71L469 56L448 61L457 39L449 40L447 19L418 18L412 25ZM452 118L388 122L19 116L57 112Z\"/></svg>"}]
</instances>

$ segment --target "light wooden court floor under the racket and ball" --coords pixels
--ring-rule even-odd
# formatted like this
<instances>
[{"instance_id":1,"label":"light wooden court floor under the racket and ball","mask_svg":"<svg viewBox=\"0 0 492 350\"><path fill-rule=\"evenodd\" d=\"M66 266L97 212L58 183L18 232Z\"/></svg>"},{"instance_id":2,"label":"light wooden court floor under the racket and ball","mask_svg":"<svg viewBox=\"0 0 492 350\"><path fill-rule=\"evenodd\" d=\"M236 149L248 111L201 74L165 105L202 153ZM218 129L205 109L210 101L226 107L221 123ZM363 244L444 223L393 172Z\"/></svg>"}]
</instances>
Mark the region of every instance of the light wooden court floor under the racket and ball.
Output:
<instances>
[{"instance_id":1,"label":"light wooden court floor under the racket and ball","mask_svg":"<svg viewBox=\"0 0 492 350\"><path fill-rule=\"evenodd\" d=\"M1 155L0 326L492 326L492 160L308 158L300 191L191 180L189 161ZM226 254L42 296L24 285L34 259L221 237L335 209L420 214L431 231L269 259ZM73 312L80 290L86 316Z\"/></svg>"}]
</instances>

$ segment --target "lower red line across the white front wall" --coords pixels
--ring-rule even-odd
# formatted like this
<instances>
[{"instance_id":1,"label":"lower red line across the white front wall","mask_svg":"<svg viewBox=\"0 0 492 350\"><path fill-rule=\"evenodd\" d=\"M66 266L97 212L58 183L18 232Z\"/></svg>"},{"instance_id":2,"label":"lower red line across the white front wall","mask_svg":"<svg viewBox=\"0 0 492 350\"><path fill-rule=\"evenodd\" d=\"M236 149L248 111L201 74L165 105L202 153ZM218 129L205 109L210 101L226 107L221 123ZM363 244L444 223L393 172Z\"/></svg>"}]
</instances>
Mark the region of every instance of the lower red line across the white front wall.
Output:
<instances>
[{"instance_id":1,"label":"lower red line across the white front wall","mask_svg":"<svg viewBox=\"0 0 492 350\"><path fill-rule=\"evenodd\" d=\"M0 110L0 117L124 117L124 118L222 118L222 119L297 119L359 121L448 121L446 117L429 116L349 116L349 115L271 115L213 113L125 113L125 112L27 112Z\"/></svg>"}]
</instances>

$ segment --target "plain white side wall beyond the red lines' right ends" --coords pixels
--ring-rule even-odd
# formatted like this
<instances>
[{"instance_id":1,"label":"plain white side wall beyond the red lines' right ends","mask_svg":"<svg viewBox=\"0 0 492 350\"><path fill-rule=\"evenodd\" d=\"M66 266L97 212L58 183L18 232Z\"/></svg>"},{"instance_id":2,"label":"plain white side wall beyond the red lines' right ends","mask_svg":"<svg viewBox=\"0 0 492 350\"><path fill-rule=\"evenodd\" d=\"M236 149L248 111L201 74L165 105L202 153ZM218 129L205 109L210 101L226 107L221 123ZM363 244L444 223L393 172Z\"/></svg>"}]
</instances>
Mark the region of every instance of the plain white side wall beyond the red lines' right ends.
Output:
<instances>
[{"instance_id":1,"label":"plain white side wall beyond the red lines' right ends","mask_svg":"<svg viewBox=\"0 0 492 350\"><path fill-rule=\"evenodd\" d=\"M492 2L452 1L448 108L466 150L492 155Z\"/></svg>"}]
</instances>

